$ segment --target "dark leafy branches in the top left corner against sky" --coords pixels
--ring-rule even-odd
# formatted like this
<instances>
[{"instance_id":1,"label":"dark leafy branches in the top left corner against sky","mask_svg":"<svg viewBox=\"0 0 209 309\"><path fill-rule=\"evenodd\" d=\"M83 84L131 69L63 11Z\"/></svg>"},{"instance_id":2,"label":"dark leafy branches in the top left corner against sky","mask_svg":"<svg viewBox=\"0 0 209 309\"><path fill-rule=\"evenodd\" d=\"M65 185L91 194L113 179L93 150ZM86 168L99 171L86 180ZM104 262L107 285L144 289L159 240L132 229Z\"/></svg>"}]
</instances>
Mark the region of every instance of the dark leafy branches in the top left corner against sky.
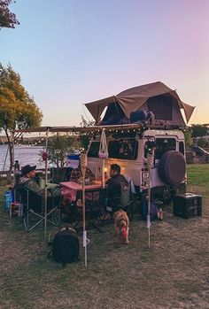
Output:
<instances>
[{"instance_id":1,"label":"dark leafy branches in the top left corner against sky","mask_svg":"<svg viewBox=\"0 0 209 309\"><path fill-rule=\"evenodd\" d=\"M13 3L15 3L13 0L0 0L0 29L14 28L15 25L19 25L16 15L9 9L9 5Z\"/></svg>"}]
</instances>

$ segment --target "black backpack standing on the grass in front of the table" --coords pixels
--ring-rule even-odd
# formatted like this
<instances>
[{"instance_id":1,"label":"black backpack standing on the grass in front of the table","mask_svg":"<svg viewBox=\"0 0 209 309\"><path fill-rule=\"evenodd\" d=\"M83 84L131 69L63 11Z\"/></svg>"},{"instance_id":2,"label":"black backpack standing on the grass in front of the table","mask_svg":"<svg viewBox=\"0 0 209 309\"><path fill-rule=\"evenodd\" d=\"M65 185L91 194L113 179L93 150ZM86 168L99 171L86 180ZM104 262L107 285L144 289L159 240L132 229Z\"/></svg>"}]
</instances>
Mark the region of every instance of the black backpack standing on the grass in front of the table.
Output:
<instances>
[{"instance_id":1,"label":"black backpack standing on the grass in front of the table","mask_svg":"<svg viewBox=\"0 0 209 309\"><path fill-rule=\"evenodd\" d=\"M54 236L52 248L48 258L52 257L56 262L65 266L79 260L80 244L77 232L74 228L62 228Z\"/></svg>"}]
</instances>

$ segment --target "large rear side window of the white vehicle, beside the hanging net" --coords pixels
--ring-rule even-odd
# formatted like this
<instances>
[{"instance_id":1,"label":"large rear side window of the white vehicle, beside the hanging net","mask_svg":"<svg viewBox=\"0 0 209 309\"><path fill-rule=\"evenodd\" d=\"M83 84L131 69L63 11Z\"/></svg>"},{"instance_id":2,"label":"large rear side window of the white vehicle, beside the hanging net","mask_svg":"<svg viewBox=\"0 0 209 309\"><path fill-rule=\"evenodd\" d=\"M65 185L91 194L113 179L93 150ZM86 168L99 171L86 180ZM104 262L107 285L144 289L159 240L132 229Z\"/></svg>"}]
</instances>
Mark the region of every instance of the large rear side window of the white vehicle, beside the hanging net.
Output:
<instances>
[{"instance_id":1,"label":"large rear side window of the white vehicle, beside the hanging net","mask_svg":"<svg viewBox=\"0 0 209 309\"><path fill-rule=\"evenodd\" d=\"M109 158L135 160L138 154L138 142L135 140L110 141Z\"/></svg>"}]
</instances>

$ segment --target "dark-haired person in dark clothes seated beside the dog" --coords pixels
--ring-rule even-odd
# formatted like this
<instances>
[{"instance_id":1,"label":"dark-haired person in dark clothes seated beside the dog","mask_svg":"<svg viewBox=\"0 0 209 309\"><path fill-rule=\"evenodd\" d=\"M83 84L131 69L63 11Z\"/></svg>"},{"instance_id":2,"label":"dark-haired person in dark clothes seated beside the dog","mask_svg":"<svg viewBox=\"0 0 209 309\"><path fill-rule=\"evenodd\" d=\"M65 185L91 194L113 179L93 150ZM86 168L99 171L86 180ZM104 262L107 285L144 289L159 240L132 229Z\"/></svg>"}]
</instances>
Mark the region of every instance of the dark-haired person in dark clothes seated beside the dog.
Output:
<instances>
[{"instance_id":1,"label":"dark-haired person in dark clothes seated beside the dog","mask_svg":"<svg viewBox=\"0 0 209 309\"><path fill-rule=\"evenodd\" d=\"M128 186L128 182L126 178L120 174L120 166L118 164L111 165L110 176L111 178L106 182L106 205L107 210L116 212L121 208L121 189Z\"/></svg>"}]
</instances>

